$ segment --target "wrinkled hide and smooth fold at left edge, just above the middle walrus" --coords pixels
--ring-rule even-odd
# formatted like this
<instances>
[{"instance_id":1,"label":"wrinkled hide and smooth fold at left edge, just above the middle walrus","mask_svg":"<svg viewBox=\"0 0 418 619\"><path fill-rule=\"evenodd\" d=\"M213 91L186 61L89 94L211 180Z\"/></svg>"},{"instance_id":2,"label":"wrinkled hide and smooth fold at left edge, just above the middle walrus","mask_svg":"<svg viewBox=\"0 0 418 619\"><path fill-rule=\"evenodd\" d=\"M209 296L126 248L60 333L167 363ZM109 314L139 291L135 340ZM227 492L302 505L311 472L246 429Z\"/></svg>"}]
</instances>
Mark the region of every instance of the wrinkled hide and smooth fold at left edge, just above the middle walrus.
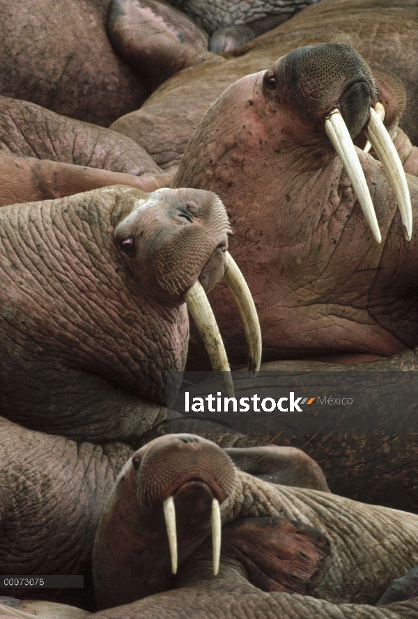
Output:
<instances>
[{"instance_id":1,"label":"wrinkled hide and smooth fold at left edge, just above the middle walrus","mask_svg":"<svg viewBox=\"0 0 418 619\"><path fill-rule=\"evenodd\" d=\"M30 102L0 101L1 206L109 185L155 191L172 180L127 136Z\"/></svg>"}]
</instances>

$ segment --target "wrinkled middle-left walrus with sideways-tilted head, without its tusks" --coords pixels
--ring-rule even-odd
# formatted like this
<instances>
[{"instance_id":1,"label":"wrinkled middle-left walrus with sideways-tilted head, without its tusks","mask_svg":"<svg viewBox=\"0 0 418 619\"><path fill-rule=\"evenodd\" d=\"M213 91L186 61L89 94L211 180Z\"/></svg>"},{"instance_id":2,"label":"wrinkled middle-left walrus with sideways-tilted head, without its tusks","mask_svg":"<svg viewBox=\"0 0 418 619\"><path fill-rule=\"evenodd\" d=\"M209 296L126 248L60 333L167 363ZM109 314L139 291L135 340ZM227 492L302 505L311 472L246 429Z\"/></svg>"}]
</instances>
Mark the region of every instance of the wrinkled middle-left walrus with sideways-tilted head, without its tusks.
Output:
<instances>
[{"instance_id":1,"label":"wrinkled middle-left walrus with sideways-tilted head, without its tusks","mask_svg":"<svg viewBox=\"0 0 418 619\"><path fill-rule=\"evenodd\" d=\"M185 365L184 292L224 274L222 203L116 186L0 217L2 414L73 439L136 440L165 418L167 371Z\"/></svg>"}]
</instances>

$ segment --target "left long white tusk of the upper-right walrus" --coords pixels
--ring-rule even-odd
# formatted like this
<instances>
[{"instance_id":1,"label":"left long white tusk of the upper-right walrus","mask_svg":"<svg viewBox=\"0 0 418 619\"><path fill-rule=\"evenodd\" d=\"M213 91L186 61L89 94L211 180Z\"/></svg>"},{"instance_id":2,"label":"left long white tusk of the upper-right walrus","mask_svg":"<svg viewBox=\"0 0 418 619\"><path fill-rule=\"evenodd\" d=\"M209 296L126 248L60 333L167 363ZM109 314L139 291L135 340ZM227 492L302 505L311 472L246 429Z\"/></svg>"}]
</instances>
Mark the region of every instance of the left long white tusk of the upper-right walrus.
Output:
<instances>
[{"instance_id":1,"label":"left long white tusk of the upper-right walrus","mask_svg":"<svg viewBox=\"0 0 418 619\"><path fill-rule=\"evenodd\" d=\"M380 235L379 224L376 218L376 212L371 201L369 187L367 187L366 178L362 166L359 162L357 152L355 152L353 140L348 133L346 123L338 109L334 109L325 120L325 131L332 142L339 158L346 168L348 178L350 178L353 189L357 194L360 205L366 217L367 223L370 226L371 233L377 243L382 242Z\"/></svg>"}]
</instances>

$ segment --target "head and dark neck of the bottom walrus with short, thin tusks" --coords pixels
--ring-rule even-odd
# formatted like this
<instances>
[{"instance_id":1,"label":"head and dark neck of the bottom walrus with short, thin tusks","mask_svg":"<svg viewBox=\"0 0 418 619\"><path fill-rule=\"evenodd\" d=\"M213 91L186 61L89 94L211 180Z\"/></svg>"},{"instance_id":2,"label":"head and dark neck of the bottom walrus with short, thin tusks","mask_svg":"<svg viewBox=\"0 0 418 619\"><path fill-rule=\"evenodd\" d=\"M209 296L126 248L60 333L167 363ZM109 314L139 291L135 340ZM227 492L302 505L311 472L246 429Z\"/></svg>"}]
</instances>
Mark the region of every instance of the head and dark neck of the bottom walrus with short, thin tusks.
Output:
<instances>
[{"instance_id":1,"label":"head and dark neck of the bottom walrus with short, thin tusks","mask_svg":"<svg viewBox=\"0 0 418 619\"><path fill-rule=\"evenodd\" d=\"M229 455L201 437L167 434L134 453L111 491L96 534L98 604L114 606L171 588L178 565L210 533L217 574L222 512L236 485ZM126 576L115 590L111 580L121 573Z\"/></svg>"}]
</instances>

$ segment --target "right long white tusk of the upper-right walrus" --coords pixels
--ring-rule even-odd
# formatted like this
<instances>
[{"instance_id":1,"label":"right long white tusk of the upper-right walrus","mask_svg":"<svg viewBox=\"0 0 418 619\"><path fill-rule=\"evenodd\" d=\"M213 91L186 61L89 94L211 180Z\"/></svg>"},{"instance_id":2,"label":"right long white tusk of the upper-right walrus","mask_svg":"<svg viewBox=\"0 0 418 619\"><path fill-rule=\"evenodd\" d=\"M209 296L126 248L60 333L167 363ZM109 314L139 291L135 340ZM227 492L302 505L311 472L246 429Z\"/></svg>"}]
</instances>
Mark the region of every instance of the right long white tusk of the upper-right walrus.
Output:
<instances>
[{"instance_id":1,"label":"right long white tusk of the upper-right walrus","mask_svg":"<svg viewBox=\"0 0 418 619\"><path fill-rule=\"evenodd\" d=\"M412 237L412 207L405 171L391 136L389 136L385 125L373 108L370 110L370 119L366 125L365 133L385 168L387 178L389 178L396 196L402 223L405 226L406 240L410 241Z\"/></svg>"}]
</instances>

